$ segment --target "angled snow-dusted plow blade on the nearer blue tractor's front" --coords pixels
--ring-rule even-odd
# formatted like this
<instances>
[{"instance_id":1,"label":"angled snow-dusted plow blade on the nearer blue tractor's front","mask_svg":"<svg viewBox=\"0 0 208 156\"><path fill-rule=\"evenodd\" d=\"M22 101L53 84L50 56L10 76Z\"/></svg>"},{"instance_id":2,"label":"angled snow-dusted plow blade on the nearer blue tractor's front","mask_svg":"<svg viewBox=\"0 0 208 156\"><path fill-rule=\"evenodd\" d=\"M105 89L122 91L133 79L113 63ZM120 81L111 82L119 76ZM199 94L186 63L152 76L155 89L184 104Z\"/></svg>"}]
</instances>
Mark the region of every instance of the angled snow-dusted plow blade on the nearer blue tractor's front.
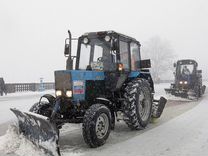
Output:
<instances>
[{"instance_id":1,"label":"angled snow-dusted plow blade on the nearer blue tractor's front","mask_svg":"<svg viewBox=\"0 0 208 156\"><path fill-rule=\"evenodd\" d=\"M59 133L55 124L47 117L31 113L21 112L17 109L10 109L17 117L19 131L38 148L51 156L60 156L58 147Z\"/></svg>"}]
</instances>

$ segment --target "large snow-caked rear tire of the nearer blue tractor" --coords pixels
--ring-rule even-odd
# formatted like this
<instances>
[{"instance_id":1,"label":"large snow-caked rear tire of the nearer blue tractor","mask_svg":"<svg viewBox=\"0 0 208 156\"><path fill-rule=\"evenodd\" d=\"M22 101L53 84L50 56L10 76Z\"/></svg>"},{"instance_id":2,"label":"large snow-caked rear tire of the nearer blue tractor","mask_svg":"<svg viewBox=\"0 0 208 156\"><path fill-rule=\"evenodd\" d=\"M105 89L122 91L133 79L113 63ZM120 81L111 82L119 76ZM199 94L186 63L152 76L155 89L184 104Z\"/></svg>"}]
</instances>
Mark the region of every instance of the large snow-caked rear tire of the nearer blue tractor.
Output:
<instances>
[{"instance_id":1,"label":"large snow-caked rear tire of the nearer blue tractor","mask_svg":"<svg viewBox=\"0 0 208 156\"><path fill-rule=\"evenodd\" d=\"M123 102L124 121L132 130L143 129L150 122L152 95L148 81L136 79L125 88Z\"/></svg>"}]
</instances>

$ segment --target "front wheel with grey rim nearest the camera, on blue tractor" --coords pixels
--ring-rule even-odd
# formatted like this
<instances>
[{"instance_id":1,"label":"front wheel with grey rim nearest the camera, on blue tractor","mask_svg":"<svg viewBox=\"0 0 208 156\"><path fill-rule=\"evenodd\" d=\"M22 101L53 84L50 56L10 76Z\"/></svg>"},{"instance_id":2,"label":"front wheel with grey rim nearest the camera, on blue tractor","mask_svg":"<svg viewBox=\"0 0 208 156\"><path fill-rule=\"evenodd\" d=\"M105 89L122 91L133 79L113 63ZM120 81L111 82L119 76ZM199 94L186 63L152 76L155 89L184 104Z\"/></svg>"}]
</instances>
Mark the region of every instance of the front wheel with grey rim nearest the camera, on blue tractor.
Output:
<instances>
[{"instance_id":1,"label":"front wheel with grey rim nearest the camera, on blue tractor","mask_svg":"<svg viewBox=\"0 0 208 156\"><path fill-rule=\"evenodd\" d=\"M92 105L83 119L84 141L92 148L105 144L111 131L111 113L103 104Z\"/></svg>"}]
</instances>

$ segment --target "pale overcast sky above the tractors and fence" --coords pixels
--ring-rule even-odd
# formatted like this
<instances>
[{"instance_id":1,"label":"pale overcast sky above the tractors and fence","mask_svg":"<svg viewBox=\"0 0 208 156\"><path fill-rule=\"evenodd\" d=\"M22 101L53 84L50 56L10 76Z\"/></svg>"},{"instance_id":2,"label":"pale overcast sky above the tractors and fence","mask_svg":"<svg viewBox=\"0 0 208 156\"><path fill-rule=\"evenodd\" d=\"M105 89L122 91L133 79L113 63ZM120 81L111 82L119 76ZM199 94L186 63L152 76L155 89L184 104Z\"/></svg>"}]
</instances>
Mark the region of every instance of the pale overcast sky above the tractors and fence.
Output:
<instances>
[{"instance_id":1,"label":"pale overcast sky above the tractors and fence","mask_svg":"<svg viewBox=\"0 0 208 156\"><path fill-rule=\"evenodd\" d=\"M0 0L0 77L53 81L53 71L65 69L68 29L74 37L115 30L141 44L157 35L208 75L207 19L207 0Z\"/></svg>"}]
</instances>

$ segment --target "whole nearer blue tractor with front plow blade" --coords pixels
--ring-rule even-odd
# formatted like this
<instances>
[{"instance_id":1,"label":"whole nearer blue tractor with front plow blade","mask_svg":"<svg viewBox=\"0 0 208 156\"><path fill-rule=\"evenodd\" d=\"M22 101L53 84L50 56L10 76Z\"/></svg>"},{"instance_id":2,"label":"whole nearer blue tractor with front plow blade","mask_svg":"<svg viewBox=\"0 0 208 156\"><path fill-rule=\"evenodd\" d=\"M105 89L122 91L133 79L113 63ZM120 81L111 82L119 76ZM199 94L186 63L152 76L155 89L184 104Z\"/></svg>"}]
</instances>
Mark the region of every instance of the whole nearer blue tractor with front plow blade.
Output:
<instances>
[{"instance_id":1,"label":"whole nearer blue tractor with front plow blade","mask_svg":"<svg viewBox=\"0 0 208 156\"><path fill-rule=\"evenodd\" d=\"M154 100L150 60L141 60L136 39L114 31L86 33L72 56L68 33L66 70L55 71L56 96L44 95L30 112L11 109L20 132L46 148L43 142L58 144L63 124L82 123L84 141L95 148L106 142L118 114L132 130L160 117L167 100Z\"/></svg>"}]
</instances>

